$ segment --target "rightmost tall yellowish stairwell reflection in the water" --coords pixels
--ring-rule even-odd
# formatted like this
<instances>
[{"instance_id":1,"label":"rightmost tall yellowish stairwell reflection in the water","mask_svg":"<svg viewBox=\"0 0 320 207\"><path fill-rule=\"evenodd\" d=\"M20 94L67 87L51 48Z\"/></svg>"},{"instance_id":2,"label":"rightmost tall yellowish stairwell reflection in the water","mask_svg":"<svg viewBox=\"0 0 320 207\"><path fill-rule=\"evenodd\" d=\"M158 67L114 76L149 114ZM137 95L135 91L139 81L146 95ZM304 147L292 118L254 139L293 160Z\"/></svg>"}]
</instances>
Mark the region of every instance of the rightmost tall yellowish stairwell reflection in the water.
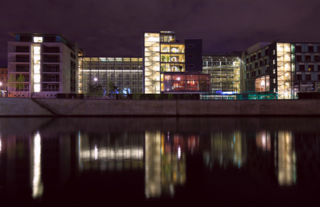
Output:
<instances>
[{"instance_id":1,"label":"rightmost tall yellowish stairwell reflection in the water","mask_svg":"<svg viewBox=\"0 0 320 207\"><path fill-rule=\"evenodd\" d=\"M297 161L292 132L279 131L277 140L276 175L280 186L292 186L297 179ZM276 153L276 152L275 152Z\"/></svg>"}]
</instances>

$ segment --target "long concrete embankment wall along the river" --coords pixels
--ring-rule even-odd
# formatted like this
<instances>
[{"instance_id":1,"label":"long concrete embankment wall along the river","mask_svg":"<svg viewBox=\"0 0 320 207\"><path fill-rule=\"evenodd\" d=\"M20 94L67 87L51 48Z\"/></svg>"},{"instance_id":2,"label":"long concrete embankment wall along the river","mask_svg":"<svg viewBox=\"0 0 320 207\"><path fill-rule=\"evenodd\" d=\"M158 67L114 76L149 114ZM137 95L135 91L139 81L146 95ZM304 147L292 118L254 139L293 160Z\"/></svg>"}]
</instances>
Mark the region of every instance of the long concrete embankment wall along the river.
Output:
<instances>
[{"instance_id":1,"label":"long concrete embankment wall along the river","mask_svg":"<svg viewBox=\"0 0 320 207\"><path fill-rule=\"evenodd\" d=\"M320 116L320 100L1 98L0 116Z\"/></svg>"}]
</instances>

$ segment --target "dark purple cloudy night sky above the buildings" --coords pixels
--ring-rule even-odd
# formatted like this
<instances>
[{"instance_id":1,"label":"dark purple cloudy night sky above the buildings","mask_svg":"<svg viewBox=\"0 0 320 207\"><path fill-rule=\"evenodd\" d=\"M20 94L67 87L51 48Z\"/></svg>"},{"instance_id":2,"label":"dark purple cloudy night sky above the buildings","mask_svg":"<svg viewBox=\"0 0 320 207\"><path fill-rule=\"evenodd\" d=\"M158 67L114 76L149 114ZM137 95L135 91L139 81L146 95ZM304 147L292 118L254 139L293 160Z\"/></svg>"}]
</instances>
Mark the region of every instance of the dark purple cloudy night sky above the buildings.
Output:
<instances>
[{"instance_id":1,"label":"dark purple cloudy night sky above the buildings","mask_svg":"<svg viewBox=\"0 0 320 207\"><path fill-rule=\"evenodd\" d=\"M142 56L144 30L203 39L203 53L245 50L259 41L320 41L315 0L3 0L0 66L8 32L62 34L88 56Z\"/></svg>"}]
</instances>

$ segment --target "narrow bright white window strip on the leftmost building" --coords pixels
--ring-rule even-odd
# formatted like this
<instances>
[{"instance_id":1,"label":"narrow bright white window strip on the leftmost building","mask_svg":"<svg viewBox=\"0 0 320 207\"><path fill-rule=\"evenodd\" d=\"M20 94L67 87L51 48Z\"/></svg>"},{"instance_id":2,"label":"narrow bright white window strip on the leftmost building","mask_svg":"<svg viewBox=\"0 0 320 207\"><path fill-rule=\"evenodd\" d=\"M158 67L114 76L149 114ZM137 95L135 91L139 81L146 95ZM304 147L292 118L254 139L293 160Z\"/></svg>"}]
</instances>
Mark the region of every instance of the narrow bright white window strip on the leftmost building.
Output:
<instances>
[{"instance_id":1,"label":"narrow bright white window strip on the leftmost building","mask_svg":"<svg viewBox=\"0 0 320 207\"><path fill-rule=\"evenodd\" d=\"M33 45L33 92L41 90L41 46Z\"/></svg>"}]
</instances>

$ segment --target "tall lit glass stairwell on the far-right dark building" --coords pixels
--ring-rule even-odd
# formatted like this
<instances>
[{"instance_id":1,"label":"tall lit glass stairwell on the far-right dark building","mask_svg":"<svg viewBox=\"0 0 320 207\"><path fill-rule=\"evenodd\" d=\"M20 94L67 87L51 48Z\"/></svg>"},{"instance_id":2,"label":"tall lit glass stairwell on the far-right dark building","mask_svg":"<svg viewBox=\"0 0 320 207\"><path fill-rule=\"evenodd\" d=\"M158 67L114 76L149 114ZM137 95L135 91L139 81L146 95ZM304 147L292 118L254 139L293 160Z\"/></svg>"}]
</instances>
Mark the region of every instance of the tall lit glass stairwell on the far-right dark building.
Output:
<instances>
[{"instance_id":1,"label":"tall lit glass stairwell on the far-right dark building","mask_svg":"<svg viewBox=\"0 0 320 207\"><path fill-rule=\"evenodd\" d=\"M276 43L278 99L291 99L290 43Z\"/></svg>"}]
</instances>

